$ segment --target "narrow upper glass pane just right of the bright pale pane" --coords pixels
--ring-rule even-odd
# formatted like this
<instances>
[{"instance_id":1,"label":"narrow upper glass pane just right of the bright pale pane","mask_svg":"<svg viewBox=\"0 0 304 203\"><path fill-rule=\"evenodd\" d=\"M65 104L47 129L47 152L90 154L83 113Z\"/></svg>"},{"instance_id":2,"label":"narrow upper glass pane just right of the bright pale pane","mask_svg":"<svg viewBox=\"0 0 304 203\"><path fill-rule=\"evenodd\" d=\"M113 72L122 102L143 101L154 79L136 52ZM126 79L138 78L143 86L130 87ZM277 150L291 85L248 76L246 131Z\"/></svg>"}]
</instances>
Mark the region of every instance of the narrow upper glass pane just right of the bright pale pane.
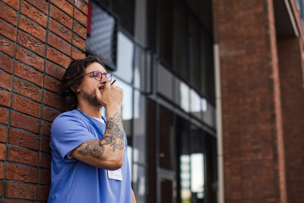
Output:
<instances>
[{"instance_id":1,"label":"narrow upper glass pane just right of the bright pale pane","mask_svg":"<svg viewBox=\"0 0 304 203\"><path fill-rule=\"evenodd\" d=\"M145 90L145 53L139 47L135 47L134 87Z\"/></svg>"}]
</instances>

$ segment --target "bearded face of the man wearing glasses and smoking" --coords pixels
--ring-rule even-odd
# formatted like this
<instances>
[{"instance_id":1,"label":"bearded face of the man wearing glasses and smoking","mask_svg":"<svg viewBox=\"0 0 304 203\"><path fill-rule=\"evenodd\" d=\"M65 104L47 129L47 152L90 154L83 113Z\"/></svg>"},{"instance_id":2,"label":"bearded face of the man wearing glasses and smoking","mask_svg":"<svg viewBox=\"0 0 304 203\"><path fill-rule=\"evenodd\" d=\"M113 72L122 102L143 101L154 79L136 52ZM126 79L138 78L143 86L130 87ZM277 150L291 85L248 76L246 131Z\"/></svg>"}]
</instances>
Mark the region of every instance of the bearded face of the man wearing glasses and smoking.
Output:
<instances>
[{"instance_id":1,"label":"bearded face of the man wearing glasses and smoking","mask_svg":"<svg viewBox=\"0 0 304 203\"><path fill-rule=\"evenodd\" d=\"M92 71L99 71L100 73L106 73L102 65L97 62L90 63L85 70L85 78L81 82L77 91L78 96L85 99L90 105L94 107L102 107L102 105L97 101L94 88L97 87L102 94L104 90L105 83L108 81L104 76L102 76L101 81L95 80Z\"/></svg>"}]
</instances>

